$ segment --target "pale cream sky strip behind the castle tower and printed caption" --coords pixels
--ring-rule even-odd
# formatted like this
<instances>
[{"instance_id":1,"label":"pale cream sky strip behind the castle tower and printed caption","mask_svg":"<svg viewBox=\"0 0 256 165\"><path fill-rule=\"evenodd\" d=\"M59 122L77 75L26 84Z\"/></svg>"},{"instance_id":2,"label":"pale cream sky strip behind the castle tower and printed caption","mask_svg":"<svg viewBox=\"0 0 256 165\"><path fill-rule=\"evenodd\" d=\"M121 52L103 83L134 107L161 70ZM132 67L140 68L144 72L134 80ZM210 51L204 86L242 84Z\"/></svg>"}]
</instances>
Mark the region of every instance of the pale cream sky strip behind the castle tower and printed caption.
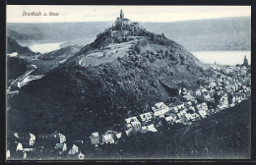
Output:
<instances>
[{"instance_id":1,"label":"pale cream sky strip behind the castle tower and printed caption","mask_svg":"<svg viewBox=\"0 0 256 165\"><path fill-rule=\"evenodd\" d=\"M114 22L120 9L135 22L176 22L251 16L250 6L89 6L7 5L7 23ZM59 16L23 16L24 12L49 12Z\"/></svg>"}]
</instances>

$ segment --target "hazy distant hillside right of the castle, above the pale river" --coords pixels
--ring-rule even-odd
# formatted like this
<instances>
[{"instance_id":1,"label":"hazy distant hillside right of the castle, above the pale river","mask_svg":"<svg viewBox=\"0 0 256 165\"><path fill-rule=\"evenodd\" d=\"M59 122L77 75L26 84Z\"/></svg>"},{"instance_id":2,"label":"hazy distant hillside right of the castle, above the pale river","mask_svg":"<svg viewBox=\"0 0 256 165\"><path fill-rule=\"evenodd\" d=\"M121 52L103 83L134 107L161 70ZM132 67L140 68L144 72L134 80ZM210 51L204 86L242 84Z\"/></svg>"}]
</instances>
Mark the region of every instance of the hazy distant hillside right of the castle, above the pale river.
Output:
<instances>
[{"instance_id":1,"label":"hazy distant hillside right of the castle, above the pale river","mask_svg":"<svg viewBox=\"0 0 256 165\"><path fill-rule=\"evenodd\" d=\"M251 49L250 17L142 25L155 33L164 32L190 51Z\"/></svg>"}]
</instances>

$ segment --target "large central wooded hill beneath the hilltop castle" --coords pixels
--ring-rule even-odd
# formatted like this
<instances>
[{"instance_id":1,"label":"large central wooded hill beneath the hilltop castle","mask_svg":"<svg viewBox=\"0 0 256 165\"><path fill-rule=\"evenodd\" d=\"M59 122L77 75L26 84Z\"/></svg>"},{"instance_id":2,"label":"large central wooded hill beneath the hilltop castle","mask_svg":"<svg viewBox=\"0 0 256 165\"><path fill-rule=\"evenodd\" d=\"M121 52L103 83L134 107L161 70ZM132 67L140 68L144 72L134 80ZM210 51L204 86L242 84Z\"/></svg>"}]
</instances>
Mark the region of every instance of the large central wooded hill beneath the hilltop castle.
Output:
<instances>
[{"instance_id":1,"label":"large central wooded hill beneath the hilltop castle","mask_svg":"<svg viewBox=\"0 0 256 165\"><path fill-rule=\"evenodd\" d=\"M195 87L206 74L202 67L207 66L163 34L137 24L110 27L63 65L24 86L9 101L8 126L85 138L159 101L181 99L169 88L187 82ZM166 88L162 80L175 86ZM17 125L18 118L26 120Z\"/></svg>"}]
</instances>

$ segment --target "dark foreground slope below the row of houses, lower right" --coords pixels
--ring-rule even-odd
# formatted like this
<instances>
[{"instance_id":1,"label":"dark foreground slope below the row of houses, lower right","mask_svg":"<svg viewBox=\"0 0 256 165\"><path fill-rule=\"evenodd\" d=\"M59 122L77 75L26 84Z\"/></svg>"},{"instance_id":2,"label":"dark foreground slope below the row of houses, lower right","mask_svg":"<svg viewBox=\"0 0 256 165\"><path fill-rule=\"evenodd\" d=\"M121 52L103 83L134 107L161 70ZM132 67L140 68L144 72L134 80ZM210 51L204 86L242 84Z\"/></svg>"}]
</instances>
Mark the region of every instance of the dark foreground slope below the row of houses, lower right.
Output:
<instances>
[{"instance_id":1,"label":"dark foreground slope below the row of houses, lower right","mask_svg":"<svg viewBox=\"0 0 256 165\"><path fill-rule=\"evenodd\" d=\"M100 151L86 146L89 158L248 159L250 98L191 126L167 126L158 133L138 133ZM132 154L131 154L132 153Z\"/></svg>"}]
</instances>

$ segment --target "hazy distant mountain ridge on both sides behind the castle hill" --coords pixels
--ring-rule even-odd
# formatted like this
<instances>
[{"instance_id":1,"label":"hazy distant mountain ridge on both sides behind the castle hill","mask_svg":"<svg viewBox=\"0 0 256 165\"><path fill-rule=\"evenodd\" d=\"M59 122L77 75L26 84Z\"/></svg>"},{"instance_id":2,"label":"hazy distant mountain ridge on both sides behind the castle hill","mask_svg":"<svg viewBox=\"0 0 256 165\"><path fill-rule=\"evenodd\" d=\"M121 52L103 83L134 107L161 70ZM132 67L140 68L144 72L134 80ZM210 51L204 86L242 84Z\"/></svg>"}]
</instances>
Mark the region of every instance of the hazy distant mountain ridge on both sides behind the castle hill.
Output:
<instances>
[{"instance_id":1,"label":"hazy distant mountain ridge on both sides behind the castle hill","mask_svg":"<svg viewBox=\"0 0 256 165\"><path fill-rule=\"evenodd\" d=\"M190 51L250 50L251 47L250 17L141 25L155 33L164 33ZM7 34L23 42L68 40L67 44L85 45L94 41L97 33L111 26L111 22L7 24Z\"/></svg>"}]
</instances>

